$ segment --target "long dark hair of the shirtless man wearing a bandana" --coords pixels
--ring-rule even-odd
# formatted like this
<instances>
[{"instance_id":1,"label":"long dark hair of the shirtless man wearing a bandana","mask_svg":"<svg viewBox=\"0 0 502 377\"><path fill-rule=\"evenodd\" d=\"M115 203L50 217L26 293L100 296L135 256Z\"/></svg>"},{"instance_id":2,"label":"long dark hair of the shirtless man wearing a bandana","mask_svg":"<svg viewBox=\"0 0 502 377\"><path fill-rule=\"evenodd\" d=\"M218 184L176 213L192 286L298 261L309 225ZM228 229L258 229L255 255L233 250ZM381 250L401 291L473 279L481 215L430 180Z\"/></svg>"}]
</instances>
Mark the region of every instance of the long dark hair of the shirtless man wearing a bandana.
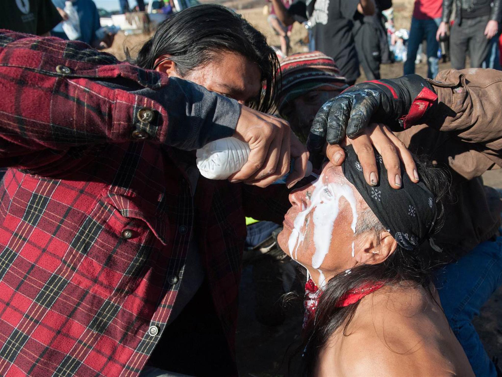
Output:
<instances>
[{"instance_id":1,"label":"long dark hair of the shirtless man wearing a bandana","mask_svg":"<svg viewBox=\"0 0 502 377\"><path fill-rule=\"evenodd\" d=\"M429 235L437 233L444 223L443 201L449 193L449 175L441 167L434 166L427 158L414 156L420 179L434 194L438 209L436 223ZM376 219L371 210L360 214L356 225L356 237L372 232L379 242L384 226ZM431 294L431 272L433 262L431 249L424 244L415 250L405 250L398 245L394 253L379 264L364 264L351 269L349 274L341 273L329 279L319 299L315 319L310 321L304 334L304 342L297 355L303 353L303 362L298 375L311 375L320 349L330 336L341 326L346 335L347 326L354 317L359 302L338 308L336 303L346 292L361 287L368 282L383 281L386 285L399 285L403 281L416 287L423 287ZM432 295L432 294L431 294ZM431 296L432 297L432 296Z\"/></svg>"}]
</instances>

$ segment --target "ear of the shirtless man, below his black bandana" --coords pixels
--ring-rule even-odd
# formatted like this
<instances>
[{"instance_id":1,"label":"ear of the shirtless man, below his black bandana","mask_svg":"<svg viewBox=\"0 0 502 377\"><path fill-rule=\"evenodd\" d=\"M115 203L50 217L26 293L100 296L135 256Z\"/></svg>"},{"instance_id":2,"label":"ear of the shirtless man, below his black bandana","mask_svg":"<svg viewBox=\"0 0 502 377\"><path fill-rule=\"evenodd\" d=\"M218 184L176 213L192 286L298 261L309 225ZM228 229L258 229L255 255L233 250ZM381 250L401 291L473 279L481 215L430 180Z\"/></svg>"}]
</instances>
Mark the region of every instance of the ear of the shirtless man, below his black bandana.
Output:
<instances>
[{"instance_id":1,"label":"ear of the shirtless man, below his black bandana","mask_svg":"<svg viewBox=\"0 0 502 377\"><path fill-rule=\"evenodd\" d=\"M359 251L355 255L355 260L361 264L379 264L389 258L398 243L389 232L380 233L380 243L377 243L373 234L363 234L359 240Z\"/></svg>"}]
</instances>

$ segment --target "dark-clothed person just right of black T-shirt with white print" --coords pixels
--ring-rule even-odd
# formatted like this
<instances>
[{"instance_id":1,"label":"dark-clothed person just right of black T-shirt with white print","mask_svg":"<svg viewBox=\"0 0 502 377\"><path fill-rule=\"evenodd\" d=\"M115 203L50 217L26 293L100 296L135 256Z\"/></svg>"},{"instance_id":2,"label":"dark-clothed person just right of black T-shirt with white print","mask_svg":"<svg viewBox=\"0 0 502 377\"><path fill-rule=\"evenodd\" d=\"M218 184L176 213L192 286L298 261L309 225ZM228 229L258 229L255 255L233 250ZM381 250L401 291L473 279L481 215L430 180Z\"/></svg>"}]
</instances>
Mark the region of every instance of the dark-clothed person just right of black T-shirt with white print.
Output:
<instances>
[{"instance_id":1,"label":"dark-clothed person just right of black T-shirt with white print","mask_svg":"<svg viewBox=\"0 0 502 377\"><path fill-rule=\"evenodd\" d=\"M375 13L354 21L354 34L357 57L362 65L366 79L380 78L380 63L388 62L389 42L383 23L382 11L392 7L392 0L375 0Z\"/></svg>"}]
</instances>

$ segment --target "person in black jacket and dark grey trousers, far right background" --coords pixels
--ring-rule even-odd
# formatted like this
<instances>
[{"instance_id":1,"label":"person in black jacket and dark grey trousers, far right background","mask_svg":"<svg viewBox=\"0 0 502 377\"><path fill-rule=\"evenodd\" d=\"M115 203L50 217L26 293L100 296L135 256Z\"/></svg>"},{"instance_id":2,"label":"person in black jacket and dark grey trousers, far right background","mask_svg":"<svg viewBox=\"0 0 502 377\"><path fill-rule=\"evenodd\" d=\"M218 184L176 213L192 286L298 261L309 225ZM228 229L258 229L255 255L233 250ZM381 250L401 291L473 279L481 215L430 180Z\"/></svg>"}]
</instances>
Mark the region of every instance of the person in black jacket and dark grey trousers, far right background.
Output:
<instances>
[{"instance_id":1,"label":"person in black jacket and dark grey trousers, far right background","mask_svg":"<svg viewBox=\"0 0 502 377\"><path fill-rule=\"evenodd\" d=\"M465 67L469 51L470 66L481 67L488 55L490 40L498 32L502 0L455 0L455 19L450 33L450 59L454 69ZM453 0L443 1L443 18L437 39L448 31Z\"/></svg>"}]
</instances>

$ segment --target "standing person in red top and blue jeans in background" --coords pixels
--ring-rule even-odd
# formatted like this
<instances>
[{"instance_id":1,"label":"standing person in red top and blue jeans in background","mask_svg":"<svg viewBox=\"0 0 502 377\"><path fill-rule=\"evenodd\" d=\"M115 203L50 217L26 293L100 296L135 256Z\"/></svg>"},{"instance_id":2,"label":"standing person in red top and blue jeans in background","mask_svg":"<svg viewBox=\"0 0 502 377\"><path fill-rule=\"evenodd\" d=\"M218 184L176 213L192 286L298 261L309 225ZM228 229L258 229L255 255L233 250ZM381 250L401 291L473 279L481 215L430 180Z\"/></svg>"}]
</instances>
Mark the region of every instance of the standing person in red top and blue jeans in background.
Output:
<instances>
[{"instance_id":1,"label":"standing person in red top and blue jeans in background","mask_svg":"<svg viewBox=\"0 0 502 377\"><path fill-rule=\"evenodd\" d=\"M410 37L408 39L408 54L404 64L404 73L415 73L415 59L418 46L427 41L427 77L438 74L439 43L436 32L441 22L442 0L415 0L415 8L411 19Z\"/></svg>"}]
</instances>

